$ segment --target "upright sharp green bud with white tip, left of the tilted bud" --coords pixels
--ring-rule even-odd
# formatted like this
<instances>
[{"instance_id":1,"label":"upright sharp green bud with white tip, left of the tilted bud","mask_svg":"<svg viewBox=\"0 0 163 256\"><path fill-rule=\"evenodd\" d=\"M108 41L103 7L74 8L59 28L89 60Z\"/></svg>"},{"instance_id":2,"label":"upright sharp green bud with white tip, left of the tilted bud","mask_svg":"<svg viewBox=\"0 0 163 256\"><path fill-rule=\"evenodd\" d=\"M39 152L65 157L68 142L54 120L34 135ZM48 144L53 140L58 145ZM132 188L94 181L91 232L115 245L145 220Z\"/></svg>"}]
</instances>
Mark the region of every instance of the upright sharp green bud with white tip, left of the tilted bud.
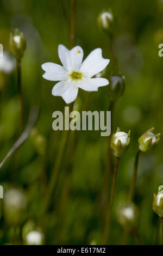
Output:
<instances>
[{"instance_id":1,"label":"upright sharp green bud with white tip, left of the tilted bud","mask_svg":"<svg viewBox=\"0 0 163 256\"><path fill-rule=\"evenodd\" d=\"M116 133L113 133L110 143L110 147L114 151L115 156L121 157L127 151L129 143L130 131L128 133L121 132L118 127Z\"/></svg>"}]
</instances>

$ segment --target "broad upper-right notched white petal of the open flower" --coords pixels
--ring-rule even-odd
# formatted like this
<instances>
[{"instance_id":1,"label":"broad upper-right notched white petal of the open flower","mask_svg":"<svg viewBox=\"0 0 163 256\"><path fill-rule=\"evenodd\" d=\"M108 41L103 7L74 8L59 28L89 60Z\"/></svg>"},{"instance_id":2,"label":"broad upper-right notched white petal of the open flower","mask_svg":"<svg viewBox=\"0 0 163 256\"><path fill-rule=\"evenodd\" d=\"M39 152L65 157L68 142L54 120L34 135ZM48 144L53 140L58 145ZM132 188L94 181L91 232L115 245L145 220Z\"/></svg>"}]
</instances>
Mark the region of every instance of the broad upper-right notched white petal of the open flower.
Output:
<instances>
[{"instance_id":1,"label":"broad upper-right notched white petal of the open flower","mask_svg":"<svg viewBox=\"0 0 163 256\"><path fill-rule=\"evenodd\" d=\"M97 48L86 57L82 63L80 71L84 72L85 76L92 77L105 69L109 62L109 59L104 59L102 57L101 48Z\"/></svg>"}]
</instances>

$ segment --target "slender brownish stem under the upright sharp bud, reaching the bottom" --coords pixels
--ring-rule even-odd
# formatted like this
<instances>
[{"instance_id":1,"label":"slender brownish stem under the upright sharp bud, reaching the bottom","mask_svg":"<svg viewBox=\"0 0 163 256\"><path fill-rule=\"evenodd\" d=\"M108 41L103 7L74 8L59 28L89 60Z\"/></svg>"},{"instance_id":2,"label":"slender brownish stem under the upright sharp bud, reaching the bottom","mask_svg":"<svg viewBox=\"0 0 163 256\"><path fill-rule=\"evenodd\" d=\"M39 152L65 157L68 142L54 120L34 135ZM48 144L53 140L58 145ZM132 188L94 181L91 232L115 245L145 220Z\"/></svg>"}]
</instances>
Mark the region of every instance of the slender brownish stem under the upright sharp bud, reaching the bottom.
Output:
<instances>
[{"instance_id":1,"label":"slender brownish stem under the upright sharp bud, reaching the bottom","mask_svg":"<svg viewBox=\"0 0 163 256\"><path fill-rule=\"evenodd\" d=\"M109 207L108 207L108 211L106 212L106 221L105 221L104 234L103 234L103 244L104 245L107 242L109 230L110 230L111 212L112 212L112 206L114 203L114 196L115 196L116 182L117 182L117 171L118 171L119 162L120 162L120 158L116 157L115 164L114 164L114 173L113 173L113 177L112 177L112 186L111 186Z\"/></svg>"}]
</instances>

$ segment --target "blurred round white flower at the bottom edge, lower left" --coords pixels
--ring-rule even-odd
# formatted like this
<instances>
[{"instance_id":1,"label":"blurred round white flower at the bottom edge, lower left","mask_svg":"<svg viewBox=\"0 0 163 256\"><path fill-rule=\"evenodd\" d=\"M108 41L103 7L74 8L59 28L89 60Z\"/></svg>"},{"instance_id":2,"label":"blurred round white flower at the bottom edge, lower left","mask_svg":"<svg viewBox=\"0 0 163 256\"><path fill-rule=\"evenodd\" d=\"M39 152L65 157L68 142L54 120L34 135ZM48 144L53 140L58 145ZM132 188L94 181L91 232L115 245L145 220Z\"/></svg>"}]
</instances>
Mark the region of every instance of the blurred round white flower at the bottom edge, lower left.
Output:
<instances>
[{"instance_id":1,"label":"blurred round white flower at the bottom edge, lower left","mask_svg":"<svg viewBox=\"0 0 163 256\"><path fill-rule=\"evenodd\" d=\"M26 235L27 245L43 245L44 235L37 230L30 231Z\"/></svg>"}]
</instances>

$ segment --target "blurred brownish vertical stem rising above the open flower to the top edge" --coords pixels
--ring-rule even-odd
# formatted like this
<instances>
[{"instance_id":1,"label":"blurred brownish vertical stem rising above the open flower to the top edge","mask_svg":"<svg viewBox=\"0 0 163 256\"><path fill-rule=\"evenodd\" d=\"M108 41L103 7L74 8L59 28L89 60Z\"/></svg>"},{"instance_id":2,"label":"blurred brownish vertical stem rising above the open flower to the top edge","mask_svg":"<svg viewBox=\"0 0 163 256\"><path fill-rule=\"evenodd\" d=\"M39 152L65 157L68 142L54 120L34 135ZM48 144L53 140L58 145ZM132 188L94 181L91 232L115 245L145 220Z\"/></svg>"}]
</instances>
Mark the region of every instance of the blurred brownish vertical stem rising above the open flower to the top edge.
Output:
<instances>
[{"instance_id":1,"label":"blurred brownish vertical stem rising above the open flower to the top edge","mask_svg":"<svg viewBox=\"0 0 163 256\"><path fill-rule=\"evenodd\" d=\"M71 0L70 49L76 41L76 0Z\"/></svg>"}]
</instances>

